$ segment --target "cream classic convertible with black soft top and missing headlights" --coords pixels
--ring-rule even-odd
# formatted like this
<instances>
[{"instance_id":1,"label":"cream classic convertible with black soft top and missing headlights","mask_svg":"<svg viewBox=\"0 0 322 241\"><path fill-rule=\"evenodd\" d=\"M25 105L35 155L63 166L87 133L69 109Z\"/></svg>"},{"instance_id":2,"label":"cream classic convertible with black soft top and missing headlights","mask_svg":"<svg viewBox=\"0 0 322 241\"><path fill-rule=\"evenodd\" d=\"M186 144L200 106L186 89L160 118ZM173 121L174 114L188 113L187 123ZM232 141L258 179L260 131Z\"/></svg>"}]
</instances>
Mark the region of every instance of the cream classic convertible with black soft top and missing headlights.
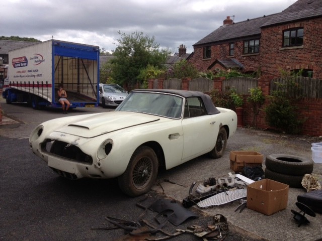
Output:
<instances>
[{"instance_id":1,"label":"cream classic convertible with black soft top and missing headlights","mask_svg":"<svg viewBox=\"0 0 322 241\"><path fill-rule=\"evenodd\" d=\"M221 157L236 127L236 113L202 92L137 89L115 111L44 122L29 143L65 178L118 177L125 194L138 196L150 190L159 168L206 153Z\"/></svg>"}]
</instances>

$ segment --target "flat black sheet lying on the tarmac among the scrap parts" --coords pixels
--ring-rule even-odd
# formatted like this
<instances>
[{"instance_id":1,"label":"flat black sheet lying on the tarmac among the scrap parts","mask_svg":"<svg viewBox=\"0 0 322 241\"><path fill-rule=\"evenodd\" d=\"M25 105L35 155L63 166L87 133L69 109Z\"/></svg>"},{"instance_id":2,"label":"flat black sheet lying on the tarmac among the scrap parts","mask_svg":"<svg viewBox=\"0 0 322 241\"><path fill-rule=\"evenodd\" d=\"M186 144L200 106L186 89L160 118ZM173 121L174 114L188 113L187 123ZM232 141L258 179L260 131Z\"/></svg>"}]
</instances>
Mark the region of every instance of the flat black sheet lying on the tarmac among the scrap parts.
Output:
<instances>
[{"instance_id":1,"label":"flat black sheet lying on the tarmac among the scrap parts","mask_svg":"<svg viewBox=\"0 0 322 241\"><path fill-rule=\"evenodd\" d=\"M189 217L198 217L192 211L187 210L173 200L159 199L152 203L149 208L155 212L163 213L163 215L167 216L169 221L176 226L183 223Z\"/></svg>"}]
</instances>

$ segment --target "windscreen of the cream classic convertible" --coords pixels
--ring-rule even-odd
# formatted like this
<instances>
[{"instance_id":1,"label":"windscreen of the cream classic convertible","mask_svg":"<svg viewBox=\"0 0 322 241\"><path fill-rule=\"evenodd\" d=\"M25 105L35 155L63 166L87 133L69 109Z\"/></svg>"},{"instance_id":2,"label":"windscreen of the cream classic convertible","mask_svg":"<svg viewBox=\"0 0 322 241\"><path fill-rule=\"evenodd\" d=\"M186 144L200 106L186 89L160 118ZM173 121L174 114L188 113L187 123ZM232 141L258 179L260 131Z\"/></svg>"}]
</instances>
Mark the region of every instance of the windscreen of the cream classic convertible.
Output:
<instances>
[{"instance_id":1,"label":"windscreen of the cream classic convertible","mask_svg":"<svg viewBox=\"0 0 322 241\"><path fill-rule=\"evenodd\" d=\"M183 98L172 94L132 92L116 109L180 118Z\"/></svg>"}]
</instances>

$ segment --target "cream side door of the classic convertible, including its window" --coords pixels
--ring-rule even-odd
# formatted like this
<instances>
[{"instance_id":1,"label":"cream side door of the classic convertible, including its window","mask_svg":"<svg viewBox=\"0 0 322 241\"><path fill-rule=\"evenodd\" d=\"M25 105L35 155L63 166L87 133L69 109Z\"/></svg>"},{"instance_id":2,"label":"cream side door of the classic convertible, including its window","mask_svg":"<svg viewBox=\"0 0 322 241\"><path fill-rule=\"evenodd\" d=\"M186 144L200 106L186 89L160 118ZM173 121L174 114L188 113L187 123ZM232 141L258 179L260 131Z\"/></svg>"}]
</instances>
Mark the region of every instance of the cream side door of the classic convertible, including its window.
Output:
<instances>
[{"instance_id":1,"label":"cream side door of the classic convertible, including its window","mask_svg":"<svg viewBox=\"0 0 322 241\"><path fill-rule=\"evenodd\" d=\"M201 98L186 98L182 128L184 137L183 161L198 157L214 148L219 123L216 123L215 115L207 114Z\"/></svg>"}]
</instances>

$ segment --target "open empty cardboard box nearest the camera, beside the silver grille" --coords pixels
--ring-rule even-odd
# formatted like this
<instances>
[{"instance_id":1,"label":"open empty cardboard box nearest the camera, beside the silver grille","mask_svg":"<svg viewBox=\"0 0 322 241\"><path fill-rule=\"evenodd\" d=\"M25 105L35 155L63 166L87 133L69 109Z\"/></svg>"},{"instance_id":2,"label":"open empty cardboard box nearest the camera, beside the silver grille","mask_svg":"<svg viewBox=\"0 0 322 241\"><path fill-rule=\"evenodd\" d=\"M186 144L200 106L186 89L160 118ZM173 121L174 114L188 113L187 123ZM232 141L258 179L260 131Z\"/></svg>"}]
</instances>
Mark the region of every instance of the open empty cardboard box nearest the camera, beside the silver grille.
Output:
<instances>
[{"instance_id":1,"label":"open empty cardboard box nearest the camera, beside the silver grille","mask_svg":"<svg viewBox=\"0 0 322 241\"><path fill-rule=\"evenodd\" d=\"M271 215L287 206L289 186L263 179L247 186L247 208Z\"/></svg>"}]
</instances>

